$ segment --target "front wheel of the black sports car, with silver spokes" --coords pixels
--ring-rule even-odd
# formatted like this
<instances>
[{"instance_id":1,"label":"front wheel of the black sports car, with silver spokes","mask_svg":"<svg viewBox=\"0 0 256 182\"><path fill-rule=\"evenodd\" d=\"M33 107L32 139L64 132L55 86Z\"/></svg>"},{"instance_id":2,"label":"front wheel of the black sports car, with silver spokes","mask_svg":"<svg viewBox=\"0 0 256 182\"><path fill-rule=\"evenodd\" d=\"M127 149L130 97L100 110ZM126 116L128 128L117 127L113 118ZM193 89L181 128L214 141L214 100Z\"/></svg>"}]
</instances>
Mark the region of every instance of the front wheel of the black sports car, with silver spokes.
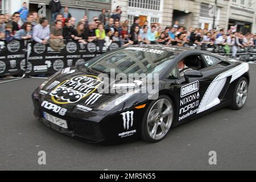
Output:
<instances>
[{"instance_id":1,"label":"front wheel of the black sports car, with silver spokes","mask_svg":"<svg viewBox=\"0 0 256 182\"><path fill-rule=\"evenodd\" d=\"M162 105L162 106L161 106ZM174 104L166 95L148 106L143 117L141 138L146 142L159 142L166 137L174 121Z\"/></svg>"}]
</instances>

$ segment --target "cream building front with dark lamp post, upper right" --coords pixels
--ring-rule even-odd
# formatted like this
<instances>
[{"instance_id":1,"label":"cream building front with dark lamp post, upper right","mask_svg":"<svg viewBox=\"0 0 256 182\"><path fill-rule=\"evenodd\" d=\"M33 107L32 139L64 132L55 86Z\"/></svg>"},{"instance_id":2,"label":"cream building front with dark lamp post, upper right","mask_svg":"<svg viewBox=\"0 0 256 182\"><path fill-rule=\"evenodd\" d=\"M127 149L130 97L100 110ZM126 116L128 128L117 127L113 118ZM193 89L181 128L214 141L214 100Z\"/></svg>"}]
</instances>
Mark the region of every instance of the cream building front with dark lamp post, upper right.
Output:
<instances>
[{"instance_id":1,"label":"cream building front with dark lamp post, upper right","mask_svg":"<svg viewBox=\"0 0 256 182\"><path fill-rule=\"evenodd\" d=\"M217 5L215 0L180 0L174 3L173 20L185 27L219 30L228 24L227 11L228 1L224 0L218 0Z\"/></svg>"}]
</instances>

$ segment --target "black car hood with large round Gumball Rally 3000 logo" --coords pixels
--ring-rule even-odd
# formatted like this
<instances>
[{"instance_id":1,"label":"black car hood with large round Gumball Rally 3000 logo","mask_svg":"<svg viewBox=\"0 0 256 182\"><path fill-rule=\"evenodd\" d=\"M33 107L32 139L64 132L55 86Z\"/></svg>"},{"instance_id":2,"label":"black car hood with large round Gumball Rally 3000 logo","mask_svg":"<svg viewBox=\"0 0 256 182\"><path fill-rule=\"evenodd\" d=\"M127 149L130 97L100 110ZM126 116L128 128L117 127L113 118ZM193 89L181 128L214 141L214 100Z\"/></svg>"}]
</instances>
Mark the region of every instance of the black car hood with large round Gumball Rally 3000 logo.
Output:
<instances>
[{"instance_id":1,"label":"black car hood with large round Gumball Rally 3000 logo","mask_svg":"<svg viewBox=\"0 0 256 182\"><path fill-rule=\"evenodd\" d=\"M128 86L118 80L101 81L96 73L88 69L66 68L51 77L39 91L40 100L61 106L72 113L112 110L133 96L135 88L127 93L117 93L115 89L127 90ZM138 91L139 89L137 89Z\"/></svg>"}]
</instances>

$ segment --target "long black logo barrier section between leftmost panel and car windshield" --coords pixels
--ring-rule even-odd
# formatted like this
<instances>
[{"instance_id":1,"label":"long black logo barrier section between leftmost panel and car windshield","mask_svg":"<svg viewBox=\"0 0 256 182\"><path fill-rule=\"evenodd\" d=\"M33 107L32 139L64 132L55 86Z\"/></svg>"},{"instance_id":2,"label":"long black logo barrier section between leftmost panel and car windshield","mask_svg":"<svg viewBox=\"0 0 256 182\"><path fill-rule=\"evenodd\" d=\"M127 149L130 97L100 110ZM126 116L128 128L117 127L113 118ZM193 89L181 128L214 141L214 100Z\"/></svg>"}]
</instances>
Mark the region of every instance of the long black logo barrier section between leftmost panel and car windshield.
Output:
<instances>
[{"instance_id":1,"label":"long black logo barrier section between leftmost panel and car windshield","mask_svg":"<svg viewBox=\"0 0 256 182\"><path fill-rule=\"evenodd\" d=\"M32 42L27 61L27 75L52 75L63 68L84 64L109 50L121 47L120 42L113 42L106 49L103 41L94 41L88 44L65 40L65 47L61 51L54 51L47 44Z\"/></svg>"}]
</instances>

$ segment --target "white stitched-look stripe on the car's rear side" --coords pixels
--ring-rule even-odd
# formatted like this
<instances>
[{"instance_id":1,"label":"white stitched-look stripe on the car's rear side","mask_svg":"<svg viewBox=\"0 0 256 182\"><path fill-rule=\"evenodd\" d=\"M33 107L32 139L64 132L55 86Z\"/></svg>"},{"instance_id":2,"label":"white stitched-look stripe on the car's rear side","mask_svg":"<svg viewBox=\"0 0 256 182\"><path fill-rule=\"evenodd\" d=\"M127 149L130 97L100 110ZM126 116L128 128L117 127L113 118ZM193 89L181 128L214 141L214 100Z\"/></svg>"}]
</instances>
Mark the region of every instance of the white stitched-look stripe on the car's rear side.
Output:
<instances>
[{"instance_id":1,"label":"white stitched-look stripe on the car's rear side","mask_svg":"<svg viewBox=\"0 0 256 182\"><path fill-rule=\"evenodd\" d=\"M238 67L232 68L232 69L218 75L212 81L212 83L209 85L207 91L205 92L204 97L199 105L197 114L220 104L221 101L218 98L218 96L220 95L221 90L224 88L226 79L229 76L232 76L232 78L230 80L230 83L232 83L234 80L237 80L237 78L241 77L247 71L249 71L249 64L242 63Z\"/></svg>"}]
</instances>

